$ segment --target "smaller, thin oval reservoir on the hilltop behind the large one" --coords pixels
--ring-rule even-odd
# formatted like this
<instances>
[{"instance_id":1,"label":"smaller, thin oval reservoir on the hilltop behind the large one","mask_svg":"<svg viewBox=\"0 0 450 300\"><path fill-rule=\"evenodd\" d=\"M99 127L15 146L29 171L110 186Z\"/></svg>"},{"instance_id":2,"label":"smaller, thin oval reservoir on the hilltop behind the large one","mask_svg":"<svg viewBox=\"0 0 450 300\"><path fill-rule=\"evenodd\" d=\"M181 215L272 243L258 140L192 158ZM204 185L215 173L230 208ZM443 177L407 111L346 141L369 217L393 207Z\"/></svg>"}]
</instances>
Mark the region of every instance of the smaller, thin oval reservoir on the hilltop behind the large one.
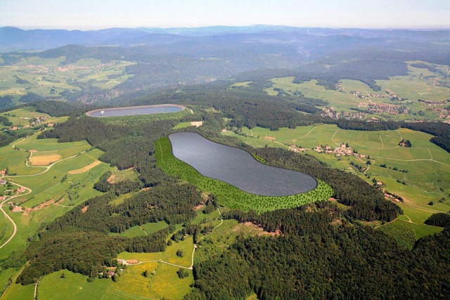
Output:
<instances>
[{"instance_id":1,"label":"smaller, thin oval reservoir on the hilltop behind the large one","mask_svg":"<svg viewBox=\"0 0 450 300\"><path fill-rule=\"evenodd\" d=\"M91 110L90 112L86 112L86 115L88 115L89 117L125 117L135 115L165 114L167 112L179 112L181 110L184 110L184 108L184 106L174 104L114 107Z\"/></svg>"}]
</instances>

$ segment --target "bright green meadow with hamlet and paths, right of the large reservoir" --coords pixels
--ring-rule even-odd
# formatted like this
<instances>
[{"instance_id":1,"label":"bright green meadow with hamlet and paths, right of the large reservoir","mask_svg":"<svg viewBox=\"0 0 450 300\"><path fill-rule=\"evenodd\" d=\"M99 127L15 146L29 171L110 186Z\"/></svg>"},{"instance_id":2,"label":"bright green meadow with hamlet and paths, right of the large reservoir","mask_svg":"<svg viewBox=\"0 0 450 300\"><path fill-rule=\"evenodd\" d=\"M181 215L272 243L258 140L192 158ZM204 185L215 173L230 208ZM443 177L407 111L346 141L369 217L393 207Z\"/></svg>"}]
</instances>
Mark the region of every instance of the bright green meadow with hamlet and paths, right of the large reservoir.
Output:
<instances>
[{"instance_id":1,"label":"bright green meadow with hamlet and paths, right of the large reservoir","mask_svg":"<svg viewBox=\"0 0 450 300\"><path fill-rule=\"evenodd\" d=\"M296 144L309 149L307 151L309 154L331 167L351 171L368 183L372 183L373 178L382 181L386 190L404 198L404 202L399 205L406 216L416 223L413 228L418 237L427 230L428 233L436 232L432 226L423 225L431 214L450 210L450 154L431 143L431 136L427 133L409 129L349 131L328 124L300 126L296 129L282 128L279 131L259 127L252 130L244 128L242 133L229 131L223 134L239 138L253 147L268 145L288 148L288 145ZM266 136L275 139L265 139ZM401 138L409 139L412 147L399 147ZM311 150L317 145L330 145L334 148L340 143L349 143L349 146L360 154L371 157L371 166L366 171L370 177L350 166L350 162L353 162L368 167L367 159L354 157L338 159L335 155L319 154ZM386 167L380 167L381 164L385 164ZM401 170L406 170L407 173ZM442 198L444 200L439 202ZM434 205L429 205L431 201Z\"/></svg>"}]
</instances>

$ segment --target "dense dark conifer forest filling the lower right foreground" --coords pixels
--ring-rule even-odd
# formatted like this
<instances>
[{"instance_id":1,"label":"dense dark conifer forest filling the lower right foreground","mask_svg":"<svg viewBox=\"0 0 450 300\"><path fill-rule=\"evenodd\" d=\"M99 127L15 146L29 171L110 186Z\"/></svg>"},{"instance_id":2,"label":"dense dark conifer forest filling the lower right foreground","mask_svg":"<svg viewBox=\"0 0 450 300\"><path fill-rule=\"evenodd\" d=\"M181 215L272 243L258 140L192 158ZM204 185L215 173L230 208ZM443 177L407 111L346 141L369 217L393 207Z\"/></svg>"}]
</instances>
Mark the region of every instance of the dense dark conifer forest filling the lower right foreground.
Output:
<instances>
[{"instance_id":1,"label":"dense dark conifer forest filling the lower right foreground","mask_svg":"<svg viewBox=\"0 0 450 300\"><path fill-rule=\"evenodd\" d=\"M238 238L229 251L195 264L195 289L185 299L444 299L449 290L448 229L410 251L352 225L332 202L226 217L283 235Z\"/></svg>"}]
</instances>

